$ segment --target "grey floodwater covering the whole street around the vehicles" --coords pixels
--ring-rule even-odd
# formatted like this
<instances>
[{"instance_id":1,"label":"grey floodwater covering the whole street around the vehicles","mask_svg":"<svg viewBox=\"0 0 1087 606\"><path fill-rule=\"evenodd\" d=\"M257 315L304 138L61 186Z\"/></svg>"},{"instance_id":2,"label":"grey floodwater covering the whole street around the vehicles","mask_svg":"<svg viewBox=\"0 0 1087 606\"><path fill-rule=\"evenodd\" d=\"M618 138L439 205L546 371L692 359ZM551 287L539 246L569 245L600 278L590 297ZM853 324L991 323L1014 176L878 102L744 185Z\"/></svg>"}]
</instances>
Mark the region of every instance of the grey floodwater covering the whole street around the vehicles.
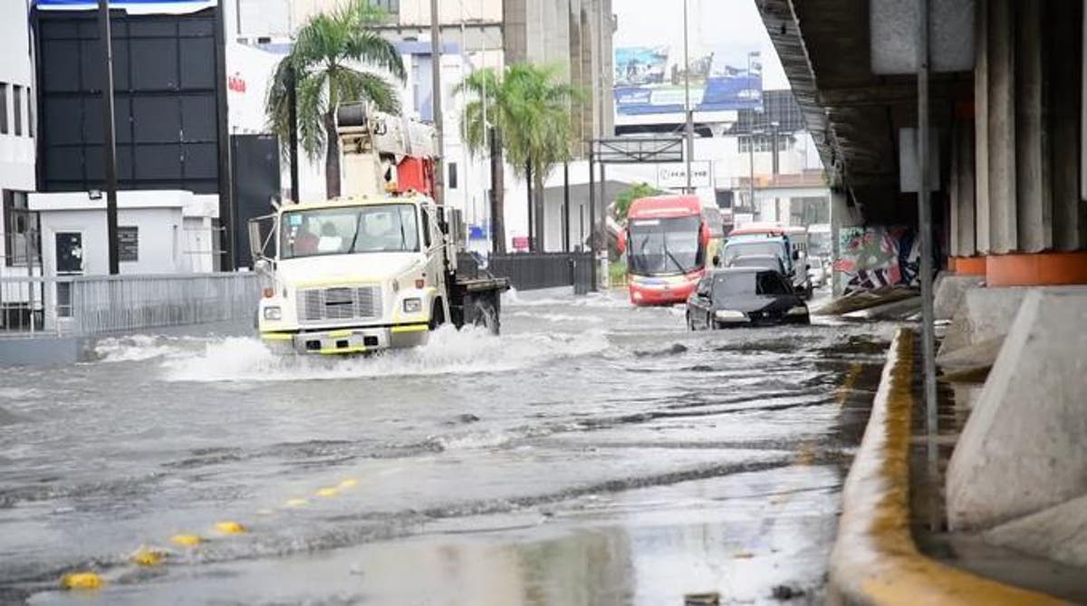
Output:
<instances>
[{"instance_id":1,"label":"grey floodwater covering the whole street around the vehicles","mask_svg":"<svg viewBox=\"0 0 1087 606\"><path fill-rule=\"evenodd\" d=\"M502 319L375 357L235 327L0 369L0 603L821 602L892 326L690 333L621 294Z\"/></svg>"}]
</instances>

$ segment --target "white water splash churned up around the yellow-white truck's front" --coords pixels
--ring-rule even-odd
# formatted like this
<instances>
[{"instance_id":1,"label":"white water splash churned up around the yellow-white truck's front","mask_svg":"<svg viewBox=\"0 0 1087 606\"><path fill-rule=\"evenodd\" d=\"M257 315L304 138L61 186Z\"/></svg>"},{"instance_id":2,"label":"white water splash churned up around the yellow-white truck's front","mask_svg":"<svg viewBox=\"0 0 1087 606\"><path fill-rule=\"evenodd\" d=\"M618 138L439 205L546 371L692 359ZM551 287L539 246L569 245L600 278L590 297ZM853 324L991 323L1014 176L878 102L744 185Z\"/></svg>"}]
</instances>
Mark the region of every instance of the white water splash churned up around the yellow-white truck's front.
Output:
<instances>
[{"instance_id":1,"label":"white water splash churned up around the yellow-white truck's front","mask_svg":"<svg viewBox=\"0 0 1087 606\"><path fill-rule=\"evenodd\" d=\"M590 355L609 346L603 332L512 334L445 327L425 346L362 357L276 354L257 339L227 338L204 351L163 362L168 381L300 381L501 373L558 358Z\"/></svg>"}]
</instances>

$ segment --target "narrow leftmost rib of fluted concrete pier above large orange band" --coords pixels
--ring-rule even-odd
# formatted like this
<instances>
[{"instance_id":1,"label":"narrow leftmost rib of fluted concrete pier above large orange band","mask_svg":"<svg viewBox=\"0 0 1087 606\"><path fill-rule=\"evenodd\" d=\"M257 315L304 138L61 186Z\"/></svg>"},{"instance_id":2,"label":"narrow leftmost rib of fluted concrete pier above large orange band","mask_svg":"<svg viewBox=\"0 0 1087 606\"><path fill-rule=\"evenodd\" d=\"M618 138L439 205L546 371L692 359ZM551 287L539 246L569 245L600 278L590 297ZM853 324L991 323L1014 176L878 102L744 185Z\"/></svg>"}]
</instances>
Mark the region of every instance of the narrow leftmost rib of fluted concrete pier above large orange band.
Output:
<instances>
[{"instance_id":1,"label":"narrow leftmost rib of fluted concrete pier above large orange band","mask_svg":"<svg viewBox=\"0 0 1087 606\"><path fill-rule=\"evenodd\" d=\"M974 22L974 217L978 252L989 251L989 2L976 0Z\"/></svg>"}]
</instances>

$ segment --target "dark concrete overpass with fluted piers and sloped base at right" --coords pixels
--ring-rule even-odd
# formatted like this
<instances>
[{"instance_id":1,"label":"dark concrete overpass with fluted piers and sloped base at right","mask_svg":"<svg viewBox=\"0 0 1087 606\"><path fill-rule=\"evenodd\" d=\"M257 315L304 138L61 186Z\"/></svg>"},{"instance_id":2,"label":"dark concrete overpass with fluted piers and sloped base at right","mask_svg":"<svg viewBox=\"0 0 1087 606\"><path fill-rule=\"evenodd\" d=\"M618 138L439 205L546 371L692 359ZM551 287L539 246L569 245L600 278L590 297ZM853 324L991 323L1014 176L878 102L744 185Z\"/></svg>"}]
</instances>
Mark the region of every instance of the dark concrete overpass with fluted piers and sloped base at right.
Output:
<instances>
[{"instance_id":1,"label":"dark concrete overpass with fluted piers and sloped base at right","mask_svg":"<svg viewBox=\"0 0 1087 606\"><path fill-rule=\"evenodd\" d=\"M916 88L912 75L873 73L872 31L894 25L873 18L878 1L755 0L836 216L916 225L916 194L899 192L899 129L916 126ZM947 469L947 519L1084 567L1075 547L1087 532L1067 531L1087 528L1084 0L948 1L967 9L941 35L971 37L973 66L932 80L930 203L937 266L949 270L937 317L951 320L937 362L987 378Z\"/></svg>"}]
</instances>

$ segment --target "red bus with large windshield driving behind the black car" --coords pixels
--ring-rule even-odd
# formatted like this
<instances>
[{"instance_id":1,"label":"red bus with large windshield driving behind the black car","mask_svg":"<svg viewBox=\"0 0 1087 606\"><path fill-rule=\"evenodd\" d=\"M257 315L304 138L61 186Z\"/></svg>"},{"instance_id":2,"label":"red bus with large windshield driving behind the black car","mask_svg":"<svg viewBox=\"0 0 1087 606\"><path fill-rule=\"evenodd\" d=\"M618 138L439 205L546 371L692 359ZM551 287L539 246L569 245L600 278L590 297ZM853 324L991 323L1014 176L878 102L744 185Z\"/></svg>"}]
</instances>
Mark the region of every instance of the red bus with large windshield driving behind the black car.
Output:
<instances>
[{"instance_id":1,"label":"red bus with large windshield driving behind the black car","mask_svg":"<svg viewBox=\"0 0 1087 606\"><path fill-rule=\"evenodd\" d=\"M697 195L654 195L630 203L620 250L635 305L687 301L724 241L721 212Z\"/></svg>"}]
</instances>

